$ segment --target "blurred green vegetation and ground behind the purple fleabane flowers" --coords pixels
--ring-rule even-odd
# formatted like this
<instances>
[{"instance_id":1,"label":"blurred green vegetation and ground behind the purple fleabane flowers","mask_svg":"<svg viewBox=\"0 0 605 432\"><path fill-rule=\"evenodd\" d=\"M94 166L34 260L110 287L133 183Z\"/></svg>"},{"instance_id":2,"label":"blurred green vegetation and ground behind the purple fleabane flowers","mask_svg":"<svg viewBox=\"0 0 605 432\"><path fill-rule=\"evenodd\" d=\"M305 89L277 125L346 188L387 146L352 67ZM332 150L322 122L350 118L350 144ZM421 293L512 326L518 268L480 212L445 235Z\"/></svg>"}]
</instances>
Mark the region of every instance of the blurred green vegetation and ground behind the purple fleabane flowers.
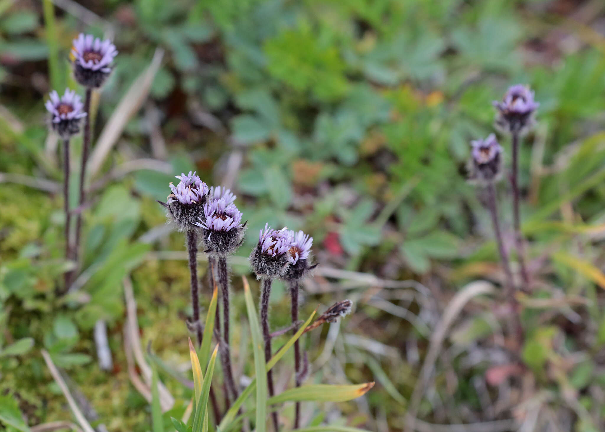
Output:
<instances>
[{"instance_id":1,"label":"blurred green vegetation and ground behind the purple fleabane flowers","mask_svg":"<svg viewBox=\"0 0 605 432\"><path fill-rule=\"evenodd\" d=\"M69 264L43 104L53 88L77 88L69 50L80 31L110 36L120 53L93 102L93 142L105 136L111 151L90 173L98 187L84 209L83 276L57 296ZM154 53L163 53L157 71ZM492 131L491 101L519 82L541 104L520 157L534 280L522 298L524 367L490 380L511 363L498 324L506 314L497 295L474 301L448 331L417 417L528 428L537 412L541 430L604 430L604 53L599 0L0 0L0 405L30 426L69 418L44 348L97 423L149 430L149 404L128 381L122 281L131 275L143 343L186 363L188 270L180 255L166 259L183 237L155 200L191 169L238 195L250 229L234 274L249 273L244 258L266 221L309 232L321 266L359 272L306 283L304 316L345 296L356 303L339 332L304 342L309 381L377 385L356 402L306 405L307 422L402 430L443 310L472 281L500 283L489 217L464 166L469 140ZM512 238L507 182L500 197ZM233 291L243 325L235 367L250 375L240 278ZM273 327L286 326L279 284L272 301ZM99 320L111 371L96 362ZM324 344L332 356L322 357ZM165 382L181 405L191 397Z\"/></svg>"}]
</instances>

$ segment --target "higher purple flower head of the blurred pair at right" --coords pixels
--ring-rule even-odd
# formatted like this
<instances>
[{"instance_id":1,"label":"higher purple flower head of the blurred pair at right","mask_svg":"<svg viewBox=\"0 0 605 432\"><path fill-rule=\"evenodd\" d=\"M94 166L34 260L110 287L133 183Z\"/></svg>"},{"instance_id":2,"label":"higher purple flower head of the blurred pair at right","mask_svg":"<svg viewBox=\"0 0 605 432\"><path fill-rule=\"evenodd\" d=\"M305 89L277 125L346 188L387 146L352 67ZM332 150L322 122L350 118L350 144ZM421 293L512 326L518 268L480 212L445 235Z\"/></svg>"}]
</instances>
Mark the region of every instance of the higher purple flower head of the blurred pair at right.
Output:
<instances>
[{"instance_id":1,"label":"higher purple flower head of the blurred pair at right","mask_svg":"<svg viewBox=\"0 0 605 432\"><path fill-rule=\"evenodd\" d=\"M522 84L509 87L502 101L492 103L498 110L495 125L510 133L526 131L534 123L535 110L540 106L534 100L534 91Z\"/></svg>"}]
</instances>

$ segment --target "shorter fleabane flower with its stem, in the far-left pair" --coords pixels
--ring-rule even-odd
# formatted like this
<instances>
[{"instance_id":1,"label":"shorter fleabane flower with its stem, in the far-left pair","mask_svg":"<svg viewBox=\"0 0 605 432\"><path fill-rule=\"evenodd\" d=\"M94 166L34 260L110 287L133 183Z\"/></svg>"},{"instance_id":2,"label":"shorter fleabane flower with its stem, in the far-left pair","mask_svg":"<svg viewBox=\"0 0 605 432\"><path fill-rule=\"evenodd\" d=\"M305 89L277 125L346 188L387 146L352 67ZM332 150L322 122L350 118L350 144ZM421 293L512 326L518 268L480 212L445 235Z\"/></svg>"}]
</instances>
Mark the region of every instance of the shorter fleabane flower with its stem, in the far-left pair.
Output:
<instances>
[{"instance_id":1,"label":"shorter fleabane flower with its stem, in the far-left pair","mask_svg":"<svg viewBox=\"0 0 605 432\"><path fill-rule=\"evenodd\" d=\"M80 131L80 123L87 114L83 111L83 103L75 90L65 89L63 96L53 90L49 94L50 99L45 103L46 109L51 114L50 128L63 140L63 196L65 211L65 258L72 258L70 230L70 139ZM70 283L70 273L65 273L65 289Z\"/></svg>"}]
</instances>

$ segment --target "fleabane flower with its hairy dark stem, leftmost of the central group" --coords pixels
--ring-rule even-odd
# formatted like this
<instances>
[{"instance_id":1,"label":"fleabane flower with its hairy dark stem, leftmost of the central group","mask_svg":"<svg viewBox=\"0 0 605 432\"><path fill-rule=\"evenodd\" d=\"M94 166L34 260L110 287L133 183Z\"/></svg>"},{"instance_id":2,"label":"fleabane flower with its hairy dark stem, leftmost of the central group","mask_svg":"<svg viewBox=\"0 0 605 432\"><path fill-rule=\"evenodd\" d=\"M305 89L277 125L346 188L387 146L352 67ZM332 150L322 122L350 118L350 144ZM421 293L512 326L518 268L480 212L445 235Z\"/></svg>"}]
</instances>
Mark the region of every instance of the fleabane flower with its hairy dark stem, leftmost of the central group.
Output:
<instances>
[{"instance_id":1,"label":"fleabane flower with its hairy dark stem, leftmost of the central group","mask_svg":"<svg viewBox=\"0 0 605 432\"><path fill-rule=\"evenodd\" d=\"M158 201L166 208L166 217L174 224L177 231L185 232L186 246L189 253L189 273L191 275L191 305L193 317L192 329L197 335L198 345L201 345L200 300L197 281L197 226L198 219L203 218L203 205L208 194L208 186L202 182L195 172L185 175L175 175L180 180L177 186L170 183L171 194L166 203Z\"/></svg>"}]
</instances>

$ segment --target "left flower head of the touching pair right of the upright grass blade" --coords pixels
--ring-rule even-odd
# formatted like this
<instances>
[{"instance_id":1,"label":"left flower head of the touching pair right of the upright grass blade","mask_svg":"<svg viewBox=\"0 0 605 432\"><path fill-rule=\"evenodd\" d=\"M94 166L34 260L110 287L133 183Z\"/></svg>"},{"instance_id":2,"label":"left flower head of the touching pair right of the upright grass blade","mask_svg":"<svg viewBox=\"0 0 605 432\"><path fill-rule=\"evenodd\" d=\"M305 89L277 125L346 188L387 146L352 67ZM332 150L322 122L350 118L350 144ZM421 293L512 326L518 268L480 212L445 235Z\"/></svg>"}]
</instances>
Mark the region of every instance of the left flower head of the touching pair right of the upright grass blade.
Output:
<instances>
[{"instance_id":1,"label":"left flower head of the touching pair right of the upright grass blade","mask_svg":"<svg viewBox=\"0 0 605 432\"><path fill-rule=\"evenodd\" d=\"M292 246L295 242L286 227L275 231L265 224L258 235L257 246L250 254L250 264L257 278L283 277L290 264L288 252Z\"/></svg>"}]
</instances>

